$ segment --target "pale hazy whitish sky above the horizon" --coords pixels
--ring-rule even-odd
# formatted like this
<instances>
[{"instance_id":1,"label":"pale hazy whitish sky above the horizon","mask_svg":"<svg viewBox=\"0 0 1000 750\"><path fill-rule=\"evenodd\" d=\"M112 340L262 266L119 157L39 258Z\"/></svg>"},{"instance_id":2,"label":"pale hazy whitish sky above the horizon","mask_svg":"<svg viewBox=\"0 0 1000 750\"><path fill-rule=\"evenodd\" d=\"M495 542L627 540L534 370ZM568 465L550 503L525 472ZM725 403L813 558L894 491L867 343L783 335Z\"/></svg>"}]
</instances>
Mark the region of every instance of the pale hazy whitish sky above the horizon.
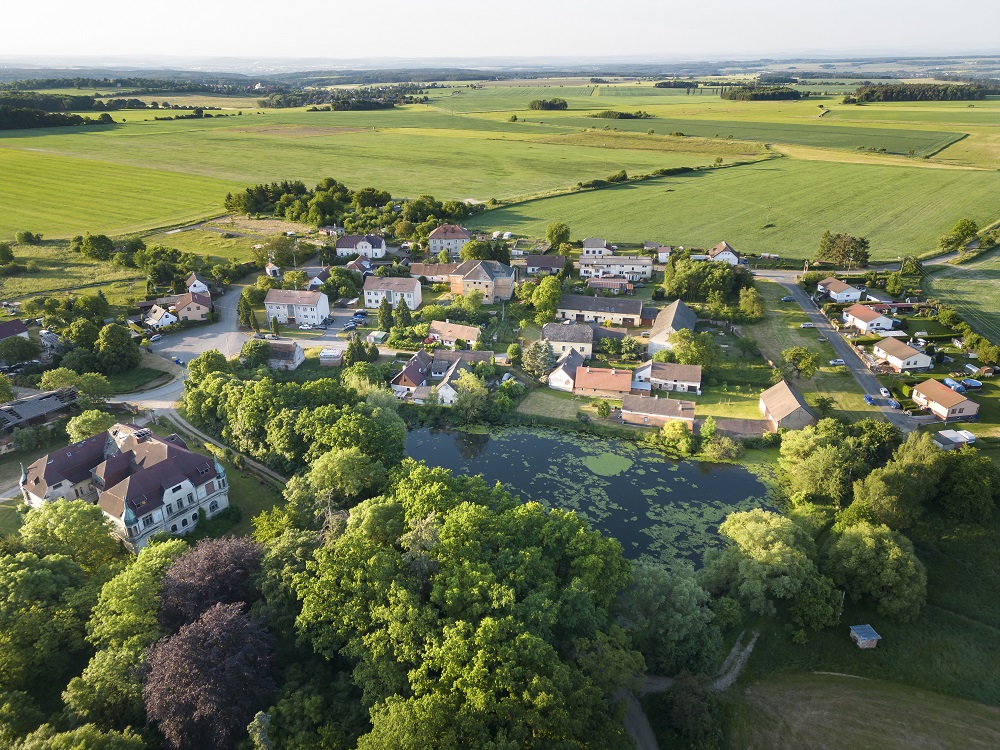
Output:
<instances>
[{"instance_id":1,"label":"pale hazy whitish sky above the horizon","mask_svg":"<svg viewBox=\"0 0 1000 750\"><path fill-rule=\"evenodd\" d=\"M1000 52L1000 0L9 0L0 57L647 58Z\"/></svg>"}]
</instances>

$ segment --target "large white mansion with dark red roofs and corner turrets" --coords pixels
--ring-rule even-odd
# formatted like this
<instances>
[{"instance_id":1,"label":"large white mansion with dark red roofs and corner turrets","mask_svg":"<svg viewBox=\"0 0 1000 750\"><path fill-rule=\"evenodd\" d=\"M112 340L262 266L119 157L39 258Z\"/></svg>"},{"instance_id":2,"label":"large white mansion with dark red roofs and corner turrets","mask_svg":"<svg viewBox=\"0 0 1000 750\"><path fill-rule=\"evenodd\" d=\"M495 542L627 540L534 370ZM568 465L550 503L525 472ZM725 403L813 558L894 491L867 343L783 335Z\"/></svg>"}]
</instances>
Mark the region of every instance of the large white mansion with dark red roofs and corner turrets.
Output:
<instances>
[{"instance_id":1,"label":"large white mansion with dark red roofs and corner turrets","mask_svg":"<svg viewBox=\"0 0 1000 750\"><path fill-rule=\"evenodd\" d=\"M177 435L161 438L133 424L42 456L22 470L20 487L32 508L63 499L96 504L133 550L157 534L190 531L199 512L212 518L229 507L229 483L217 460Z\"/></svg>"}]
</instances>

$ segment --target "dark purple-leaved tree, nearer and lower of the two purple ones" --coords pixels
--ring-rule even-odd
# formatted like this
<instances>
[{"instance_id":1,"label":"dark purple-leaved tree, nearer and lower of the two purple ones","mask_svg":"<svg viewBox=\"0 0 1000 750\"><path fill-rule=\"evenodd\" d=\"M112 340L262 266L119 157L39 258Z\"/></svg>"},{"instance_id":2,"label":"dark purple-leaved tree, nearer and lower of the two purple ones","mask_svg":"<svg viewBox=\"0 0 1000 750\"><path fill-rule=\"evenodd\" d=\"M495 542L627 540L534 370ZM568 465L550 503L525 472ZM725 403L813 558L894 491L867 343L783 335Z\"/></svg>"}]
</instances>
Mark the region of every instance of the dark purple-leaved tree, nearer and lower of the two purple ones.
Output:
<instances>
[{"instance_id":1,"label":"dark purple-leaved tree, nearer and lower of the two purple ones","mask_svg":"<svg viewBox=\"0 0 1000 750\"><path fill-rule=\"evenodd\" d=\"M232 748L274 692L272 639L240 604L216 604L149 652L146 713L168 748Z\"/></svg>"}]
</instances>

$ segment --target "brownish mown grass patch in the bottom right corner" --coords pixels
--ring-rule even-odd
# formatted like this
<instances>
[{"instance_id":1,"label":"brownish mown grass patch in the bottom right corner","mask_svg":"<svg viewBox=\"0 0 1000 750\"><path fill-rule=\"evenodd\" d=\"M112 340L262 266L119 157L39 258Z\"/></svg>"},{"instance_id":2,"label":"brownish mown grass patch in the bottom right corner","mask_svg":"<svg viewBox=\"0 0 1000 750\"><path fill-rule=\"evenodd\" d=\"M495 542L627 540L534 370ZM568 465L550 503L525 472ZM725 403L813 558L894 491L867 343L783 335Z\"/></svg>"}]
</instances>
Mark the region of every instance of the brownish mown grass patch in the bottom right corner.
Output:
<instances>
[{"instance_id":1,"label":"brownish mown grass patch in the bottom right corner","mask_svg":"<svg viewBox=\"0 0 1000 750\"><path fill-rule=\"evenodd\" d=\"M996 708L843 675L771 677L747 688L734 713L732 747L959 750L1000 745Z\"/></svg>"}]
</instances>

